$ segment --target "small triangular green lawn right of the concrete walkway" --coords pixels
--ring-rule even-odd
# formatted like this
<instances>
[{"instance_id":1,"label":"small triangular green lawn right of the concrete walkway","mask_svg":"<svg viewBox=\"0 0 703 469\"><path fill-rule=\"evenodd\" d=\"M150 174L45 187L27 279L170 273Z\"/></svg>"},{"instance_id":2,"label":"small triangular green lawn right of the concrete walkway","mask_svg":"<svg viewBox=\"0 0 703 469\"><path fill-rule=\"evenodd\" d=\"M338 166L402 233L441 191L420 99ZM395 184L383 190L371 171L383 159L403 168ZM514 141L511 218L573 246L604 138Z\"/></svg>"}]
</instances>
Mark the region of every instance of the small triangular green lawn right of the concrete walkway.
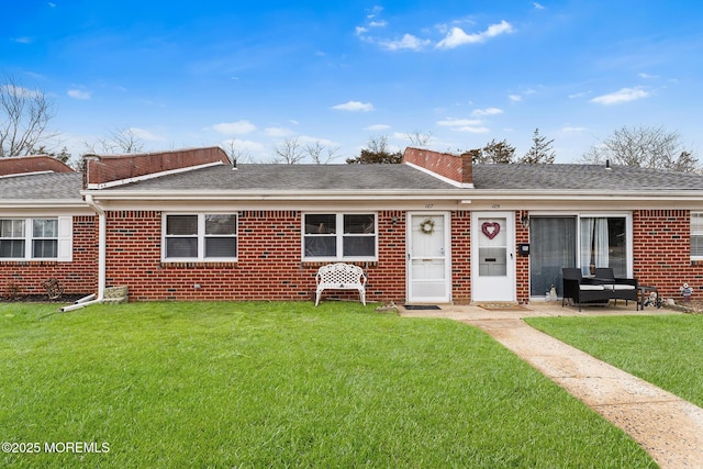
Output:
<instances>
[{"instance_id":1,"label":"small triangular green lawn right of the concrete walkway","mask_svg":"<svg viewBox=\"0 0 703 469\"><path fill-rule=\"evenodd\" d=\"M703 315L532 317L526 322L703 407Z\"/></svg>"}]
</instances>

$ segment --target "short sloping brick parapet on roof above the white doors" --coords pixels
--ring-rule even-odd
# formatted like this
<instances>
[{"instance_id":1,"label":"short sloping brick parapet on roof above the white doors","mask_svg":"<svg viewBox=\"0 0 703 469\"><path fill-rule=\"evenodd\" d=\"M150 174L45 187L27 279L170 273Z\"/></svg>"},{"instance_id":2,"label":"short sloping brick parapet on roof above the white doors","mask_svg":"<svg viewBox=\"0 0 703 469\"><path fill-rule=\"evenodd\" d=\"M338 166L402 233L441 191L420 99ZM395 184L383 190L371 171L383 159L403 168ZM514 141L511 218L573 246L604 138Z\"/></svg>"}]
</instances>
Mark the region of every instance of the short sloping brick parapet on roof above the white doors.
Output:
<instances>
[{"instance_id":1,"label":"short sloping brick parapet on roof above the white doors","mask_svg":"<svg viewBox=\"0 0 703 469\"><path fill-rule=\"evenodd\" d=\"M449 179L460 187L473 187L473 167L470 155L432 152L429 149L405 148L403 161L426 171Z\"/></svg>"}]
</instances>

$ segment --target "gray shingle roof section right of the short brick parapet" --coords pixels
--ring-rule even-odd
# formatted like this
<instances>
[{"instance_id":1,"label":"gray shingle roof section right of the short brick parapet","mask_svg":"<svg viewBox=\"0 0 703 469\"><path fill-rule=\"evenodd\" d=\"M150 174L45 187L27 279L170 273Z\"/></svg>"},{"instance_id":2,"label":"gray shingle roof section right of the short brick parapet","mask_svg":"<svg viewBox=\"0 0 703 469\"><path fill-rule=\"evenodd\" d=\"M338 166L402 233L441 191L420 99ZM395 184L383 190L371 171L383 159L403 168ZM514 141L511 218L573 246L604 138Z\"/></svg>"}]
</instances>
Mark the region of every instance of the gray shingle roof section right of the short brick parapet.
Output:
<instances>
[{"instance_id":1,"label":"gray shingle roof section right of the short brick parapet","mask_svg":"<svg viewBox=\"0 0 703 469\"><path fill-rule=\"evenodd\" d=\"M703 190L703 175L602 165L475 165L477 189Z\"/></svg>"}]
</instances>

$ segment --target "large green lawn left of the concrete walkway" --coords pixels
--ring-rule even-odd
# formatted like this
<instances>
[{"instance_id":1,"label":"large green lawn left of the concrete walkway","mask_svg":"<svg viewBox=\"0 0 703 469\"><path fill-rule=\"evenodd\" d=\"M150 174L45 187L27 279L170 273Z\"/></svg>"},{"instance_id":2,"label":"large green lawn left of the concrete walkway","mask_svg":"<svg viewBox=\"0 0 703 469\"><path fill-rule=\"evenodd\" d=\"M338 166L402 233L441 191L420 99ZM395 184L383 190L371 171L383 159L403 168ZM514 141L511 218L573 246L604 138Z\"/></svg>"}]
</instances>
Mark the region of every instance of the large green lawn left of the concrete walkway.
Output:
<instances>
[{"instance_id":1,"label":"large green lawn left of the concrete walkway","mask_svg":"<svg viewBox=\"0 0 703 469\"><path fill-rule=\"evenodd\" d=\"M0 466L655 467L458 322L339 302L55 310L0 304L0 440L42 447ZM44 450L66 442L109 451Z\"/></svg>"}]
</instances>

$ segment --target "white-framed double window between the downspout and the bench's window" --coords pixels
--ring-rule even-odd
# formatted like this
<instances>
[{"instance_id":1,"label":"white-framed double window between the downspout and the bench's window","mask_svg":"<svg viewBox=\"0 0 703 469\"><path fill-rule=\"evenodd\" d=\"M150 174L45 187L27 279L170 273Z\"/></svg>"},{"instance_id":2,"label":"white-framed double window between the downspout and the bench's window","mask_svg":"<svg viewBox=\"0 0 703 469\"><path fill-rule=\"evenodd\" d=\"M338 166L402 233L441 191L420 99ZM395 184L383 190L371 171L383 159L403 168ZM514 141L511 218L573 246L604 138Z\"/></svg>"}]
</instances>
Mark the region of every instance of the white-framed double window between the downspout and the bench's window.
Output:
<instances>
[{"instance_id":1,"label":"white-framed double window between the downspout and the bench's window","mask_svg":"<svg viewBox=\"0 0 703 469\"><path fill-rule=\"evenodd\" d=\"M164 215L165 260L236 260L237 215Z\"/></svg>"}]
</instances>

